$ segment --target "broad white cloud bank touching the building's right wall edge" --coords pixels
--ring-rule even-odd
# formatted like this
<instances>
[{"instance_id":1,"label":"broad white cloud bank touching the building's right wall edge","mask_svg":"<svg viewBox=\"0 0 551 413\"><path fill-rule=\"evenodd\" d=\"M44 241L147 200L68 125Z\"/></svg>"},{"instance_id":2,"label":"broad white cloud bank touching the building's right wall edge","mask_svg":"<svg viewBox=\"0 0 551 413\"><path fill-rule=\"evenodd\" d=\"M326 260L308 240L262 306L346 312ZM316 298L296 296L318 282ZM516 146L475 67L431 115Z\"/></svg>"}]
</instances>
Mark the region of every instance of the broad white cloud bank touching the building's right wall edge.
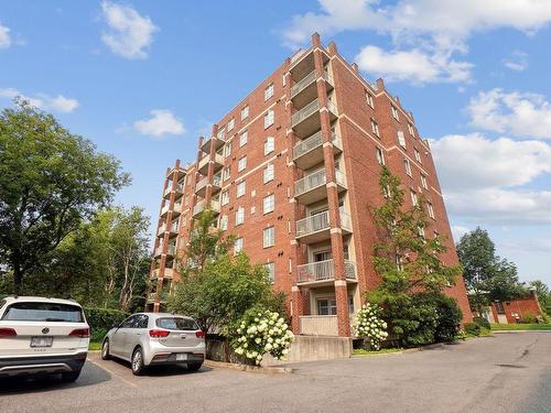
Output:
<instances>
[{"instance_id":1,"label":"broad white cloud bank touching the building's right wall edge","mask_svg":"<svg viewBox=\"0 0 551 413\"><path fill-rule=\"evenodd\" d=\"M482 134L431 141L452 215L473 222L551 224L551 192L527 189L551 174L551 145Z\"/></svg>"}]
</instances>

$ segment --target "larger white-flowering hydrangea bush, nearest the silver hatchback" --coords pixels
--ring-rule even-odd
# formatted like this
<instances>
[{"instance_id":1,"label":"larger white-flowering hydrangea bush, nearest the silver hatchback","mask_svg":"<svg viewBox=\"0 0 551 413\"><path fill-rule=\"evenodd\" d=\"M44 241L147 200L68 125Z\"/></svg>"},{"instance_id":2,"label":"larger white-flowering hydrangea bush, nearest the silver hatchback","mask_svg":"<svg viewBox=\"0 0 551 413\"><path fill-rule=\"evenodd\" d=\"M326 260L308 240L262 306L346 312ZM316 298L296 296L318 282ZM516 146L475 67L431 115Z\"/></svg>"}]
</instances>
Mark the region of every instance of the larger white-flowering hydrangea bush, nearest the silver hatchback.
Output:
<instances>
[{"instance_id":1,"label":"larger white-flowering hydrangea bush, nearest the silver hatchback","mask_svg":"<svg viewBox=\"0 0 551 413\"><path fill-rule=\"evenodd\" d=\"M260 365L269 352L277 360L283 360L294 339L284 318L279 313L263 308L251 308L240 319L231 340L234 351Z\"/></svg>"}]
</instances>

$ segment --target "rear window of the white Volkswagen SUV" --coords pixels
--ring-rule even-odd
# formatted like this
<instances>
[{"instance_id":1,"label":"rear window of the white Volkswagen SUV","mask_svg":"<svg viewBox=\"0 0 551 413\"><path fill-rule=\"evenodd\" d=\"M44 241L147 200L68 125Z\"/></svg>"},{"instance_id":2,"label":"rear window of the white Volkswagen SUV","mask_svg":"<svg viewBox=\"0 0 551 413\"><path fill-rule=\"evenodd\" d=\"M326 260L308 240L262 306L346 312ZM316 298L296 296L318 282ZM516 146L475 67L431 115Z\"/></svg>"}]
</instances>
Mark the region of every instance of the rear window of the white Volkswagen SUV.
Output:
<instances>
[{"instance_id":1,"label":"rear window of the white Volkswagen SUV","mask_svg":"<svg viewBox=\"0 0 551 413\"><path fill-rule=\"evenodd\" d=\"M13 303L2 319L13 322L83 323L83 309L76 305L55 303Z\"/></svg>"}]
</instances>

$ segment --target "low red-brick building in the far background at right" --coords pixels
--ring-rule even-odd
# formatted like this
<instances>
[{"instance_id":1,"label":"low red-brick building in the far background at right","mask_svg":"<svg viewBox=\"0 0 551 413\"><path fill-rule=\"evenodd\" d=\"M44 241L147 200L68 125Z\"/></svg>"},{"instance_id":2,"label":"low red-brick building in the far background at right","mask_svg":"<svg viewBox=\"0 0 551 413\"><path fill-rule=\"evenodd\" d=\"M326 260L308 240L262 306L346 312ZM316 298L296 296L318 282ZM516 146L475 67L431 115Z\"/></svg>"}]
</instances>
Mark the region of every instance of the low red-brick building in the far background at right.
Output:
<instances>
[{"instance_id":1,"label":"low red-brick building in the far background at right","mask_svg":"<svg viewBox=\"0 0 551 413\"><path fill-rule=\"evenodd\" d=\"M536 291L530 291L521 298L493 302L488 308L486 318L490 323L515 324L523 322L528 314L534 317L542 315Z\"/></svg>"}]
</instances>

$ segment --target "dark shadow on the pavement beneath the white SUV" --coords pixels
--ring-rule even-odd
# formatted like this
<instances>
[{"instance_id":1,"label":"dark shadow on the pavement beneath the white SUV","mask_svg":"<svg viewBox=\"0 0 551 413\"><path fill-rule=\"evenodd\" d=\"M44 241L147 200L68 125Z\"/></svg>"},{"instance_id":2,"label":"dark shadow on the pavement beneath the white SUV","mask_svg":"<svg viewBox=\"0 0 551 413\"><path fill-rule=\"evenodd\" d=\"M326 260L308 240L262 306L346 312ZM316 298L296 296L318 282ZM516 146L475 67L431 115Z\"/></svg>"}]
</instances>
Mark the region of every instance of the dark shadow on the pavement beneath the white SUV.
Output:
<instances>
[{"instance_id":1,"label":"dark shadow on the pavement beneath the white SUV","mask_svg":"<svg viewBox=\"0 0 551 413\"><path fill-rule=\"evenodd\" d=\"M61 374L0 378L0 395L76 389L109 380L111 380L111 374L90 362L86 362L80 377L73 383L62 382Z\"/></svg>"}]
</instances>

